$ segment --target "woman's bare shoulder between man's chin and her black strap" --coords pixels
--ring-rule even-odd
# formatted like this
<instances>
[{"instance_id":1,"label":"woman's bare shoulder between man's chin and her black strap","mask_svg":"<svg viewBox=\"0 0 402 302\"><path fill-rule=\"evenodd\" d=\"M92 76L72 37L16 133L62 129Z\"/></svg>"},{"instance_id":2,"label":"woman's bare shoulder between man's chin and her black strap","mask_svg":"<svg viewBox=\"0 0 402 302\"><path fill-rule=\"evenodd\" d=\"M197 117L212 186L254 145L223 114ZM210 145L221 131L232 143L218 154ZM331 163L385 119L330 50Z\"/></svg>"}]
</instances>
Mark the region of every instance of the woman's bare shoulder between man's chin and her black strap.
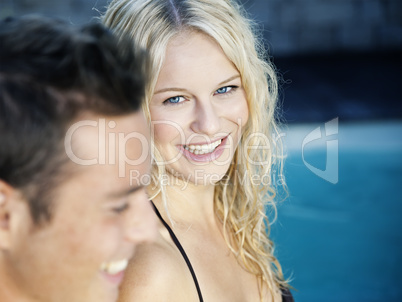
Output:
<instances>
[{"instance_id":1,"label":"woman's bare shoulder between man's chin and her black strap","mask_svg":"<svg viewBox=\"0 0 402 302\"><path fill-rule=\"evenodd\" d=\"M163 238L139 246L126 270L118 301L189 301L185 286L188 278L180 257Z\"/></svg>"}]
</instances>

